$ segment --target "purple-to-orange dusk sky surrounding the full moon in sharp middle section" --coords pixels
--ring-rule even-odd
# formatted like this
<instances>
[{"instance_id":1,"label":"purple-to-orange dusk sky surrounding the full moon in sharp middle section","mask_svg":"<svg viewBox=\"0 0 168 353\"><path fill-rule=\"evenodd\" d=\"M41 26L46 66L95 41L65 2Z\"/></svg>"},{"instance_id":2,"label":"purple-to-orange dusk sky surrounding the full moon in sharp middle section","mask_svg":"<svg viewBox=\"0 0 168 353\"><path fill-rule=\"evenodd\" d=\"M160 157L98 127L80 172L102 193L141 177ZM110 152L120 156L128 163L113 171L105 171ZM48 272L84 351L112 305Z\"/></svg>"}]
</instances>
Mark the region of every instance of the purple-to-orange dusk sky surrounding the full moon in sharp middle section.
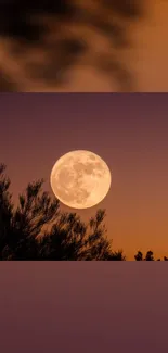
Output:
<instances>
[{"instance_id":1,"label":"purple-to-orange dusk sky surrounding the full moon in sharp middle section","mask_svg":"<svg viewBox=\"0 0 168 353\"><path fill-rule=\"evenodd\" d=\"M50 173L72 150L99 154L112 173L112 187L96 206L74 211L82 219L106 210L113 249L128 260L138 250L168 255L168 99L166 93L1 93L0 161L11 191L41 177L52 193Z\"/></svg>"}]
</instances>

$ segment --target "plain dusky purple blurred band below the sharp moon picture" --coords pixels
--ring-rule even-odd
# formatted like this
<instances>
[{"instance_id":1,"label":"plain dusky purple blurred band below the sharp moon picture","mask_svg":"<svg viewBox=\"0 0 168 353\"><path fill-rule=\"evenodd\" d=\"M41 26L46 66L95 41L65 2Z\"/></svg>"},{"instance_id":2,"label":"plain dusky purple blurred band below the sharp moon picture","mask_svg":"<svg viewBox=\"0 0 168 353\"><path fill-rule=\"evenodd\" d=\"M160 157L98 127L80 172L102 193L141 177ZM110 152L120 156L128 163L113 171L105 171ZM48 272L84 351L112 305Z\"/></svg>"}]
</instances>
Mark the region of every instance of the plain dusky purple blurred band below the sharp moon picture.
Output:
<instances>
[{"instance_id":1,"label":"plain dusky purple blurred band below the sharp moon picture","mask_svg":"<svg viewBox=\"0 0 168 353\"><path fill-rule=\"evenodd\" d=\"M3 353L167 352L164 262L2 262Z\"/></svg>"}]
</instances>

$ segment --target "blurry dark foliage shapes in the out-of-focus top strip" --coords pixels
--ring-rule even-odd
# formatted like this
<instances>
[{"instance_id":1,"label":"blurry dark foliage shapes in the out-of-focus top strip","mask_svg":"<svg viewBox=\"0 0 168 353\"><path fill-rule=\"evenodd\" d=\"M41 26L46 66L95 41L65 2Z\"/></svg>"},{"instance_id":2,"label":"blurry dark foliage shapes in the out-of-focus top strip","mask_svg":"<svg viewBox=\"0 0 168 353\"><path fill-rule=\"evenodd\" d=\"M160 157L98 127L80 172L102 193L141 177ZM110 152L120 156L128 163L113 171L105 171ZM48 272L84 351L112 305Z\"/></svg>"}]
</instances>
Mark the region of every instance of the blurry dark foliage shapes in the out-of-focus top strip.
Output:
<instances>
[{"instance_id":1,"label":"blurry dark foliage shapes in the out-of-focus top strip","mask_svg":"<svg viewBox=\"0 0 168 353\"><path fill-rule=\"evenodd\" d=\"M142 0L0 0L0 36L21 42L21 51L24 46L37 46L49 53L44 64L35 62L26 67L33 78L42 79L49 85L64 84L69 67L89 50L89 65L115 78L121 90L132 90L133 77L121 63L117 49L130 43L128 22L139 21L142 16ZM46 22L43 18L47 17ZM51 23L54 24L54 41L46 45ZM77 35L73 35L73 29L63 31L64 24L66 27L67 24L75 24L79 29L82 26L94 28L109 40L112 52L95 55L88 38L80 30ZM1 85L2 91L5 84Z\"/></svg>"}]
</instances>

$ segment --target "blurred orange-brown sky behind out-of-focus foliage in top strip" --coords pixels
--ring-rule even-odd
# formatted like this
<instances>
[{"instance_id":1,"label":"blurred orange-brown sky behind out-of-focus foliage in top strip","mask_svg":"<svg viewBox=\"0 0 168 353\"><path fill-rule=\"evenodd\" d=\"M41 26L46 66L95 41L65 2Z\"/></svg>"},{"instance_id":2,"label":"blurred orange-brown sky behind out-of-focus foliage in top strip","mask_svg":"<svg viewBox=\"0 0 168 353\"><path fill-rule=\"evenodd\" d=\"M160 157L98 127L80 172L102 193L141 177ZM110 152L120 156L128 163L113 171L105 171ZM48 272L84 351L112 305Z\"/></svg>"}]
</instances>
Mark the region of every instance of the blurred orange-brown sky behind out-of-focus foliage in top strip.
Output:
<instances>
[{"instance_id":1,"label":"blurred orange-brown sky behind out-of-focus foliage in top strip","mask_svg":"<svg viewBox=\"0 0 168 353\"><path fill-rule=\"evenodd\" d=\"M165 45L168 33L167 13L167 0L147 0L144 17L128 24L131 47L121 51L119 58L124 58L135 77L135 91L168 91L168 47ZM79 31L78 26L76 30ZM95 29L89 31L88 41L94 53L109 50L105 38L99 36ZM10 43L0 37L0 66L4 73L10 74L12 80L18 84L20 91L109 92L118 90L116 81L109 75L96 71L95 65L88 64L85 58L70 70L69 80L63 86L47 86L41 79L29 77L27 70L27 63L40 62L43 52L41 53L37 47L35 49L33 47L33 50L28 47L27 50L24 48L24 52L22 50L22 54L18 52L18 56L14 56L9 46Z\"/></svg>"}]
</instances>

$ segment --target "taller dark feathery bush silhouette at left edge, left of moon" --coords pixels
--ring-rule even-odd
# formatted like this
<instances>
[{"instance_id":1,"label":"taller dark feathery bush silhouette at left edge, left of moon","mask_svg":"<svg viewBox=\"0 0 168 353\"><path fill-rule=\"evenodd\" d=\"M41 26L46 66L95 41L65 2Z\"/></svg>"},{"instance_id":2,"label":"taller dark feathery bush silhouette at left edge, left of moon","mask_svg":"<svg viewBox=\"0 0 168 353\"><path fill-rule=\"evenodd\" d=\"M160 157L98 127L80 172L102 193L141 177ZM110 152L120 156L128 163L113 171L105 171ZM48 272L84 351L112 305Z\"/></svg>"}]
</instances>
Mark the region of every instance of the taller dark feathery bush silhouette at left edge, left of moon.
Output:
<instances>
[{"instance_id":1,"label":"taller dark feathery bush silhouette at left edge, left of moon","mask_svg":"<svg viewBox=\"0 0 168 353\"><path fill-rule=\"evenodd\" d=\"M15 210L9 193L10 179L4 176L5 165L0 166L0 257L35 259L38 255L36 237L42 227L53 222L59 212L59 201L51 202L41 192L43 180L29 184L25 196L20 196Z\"/></svg>"}]
</instances>

